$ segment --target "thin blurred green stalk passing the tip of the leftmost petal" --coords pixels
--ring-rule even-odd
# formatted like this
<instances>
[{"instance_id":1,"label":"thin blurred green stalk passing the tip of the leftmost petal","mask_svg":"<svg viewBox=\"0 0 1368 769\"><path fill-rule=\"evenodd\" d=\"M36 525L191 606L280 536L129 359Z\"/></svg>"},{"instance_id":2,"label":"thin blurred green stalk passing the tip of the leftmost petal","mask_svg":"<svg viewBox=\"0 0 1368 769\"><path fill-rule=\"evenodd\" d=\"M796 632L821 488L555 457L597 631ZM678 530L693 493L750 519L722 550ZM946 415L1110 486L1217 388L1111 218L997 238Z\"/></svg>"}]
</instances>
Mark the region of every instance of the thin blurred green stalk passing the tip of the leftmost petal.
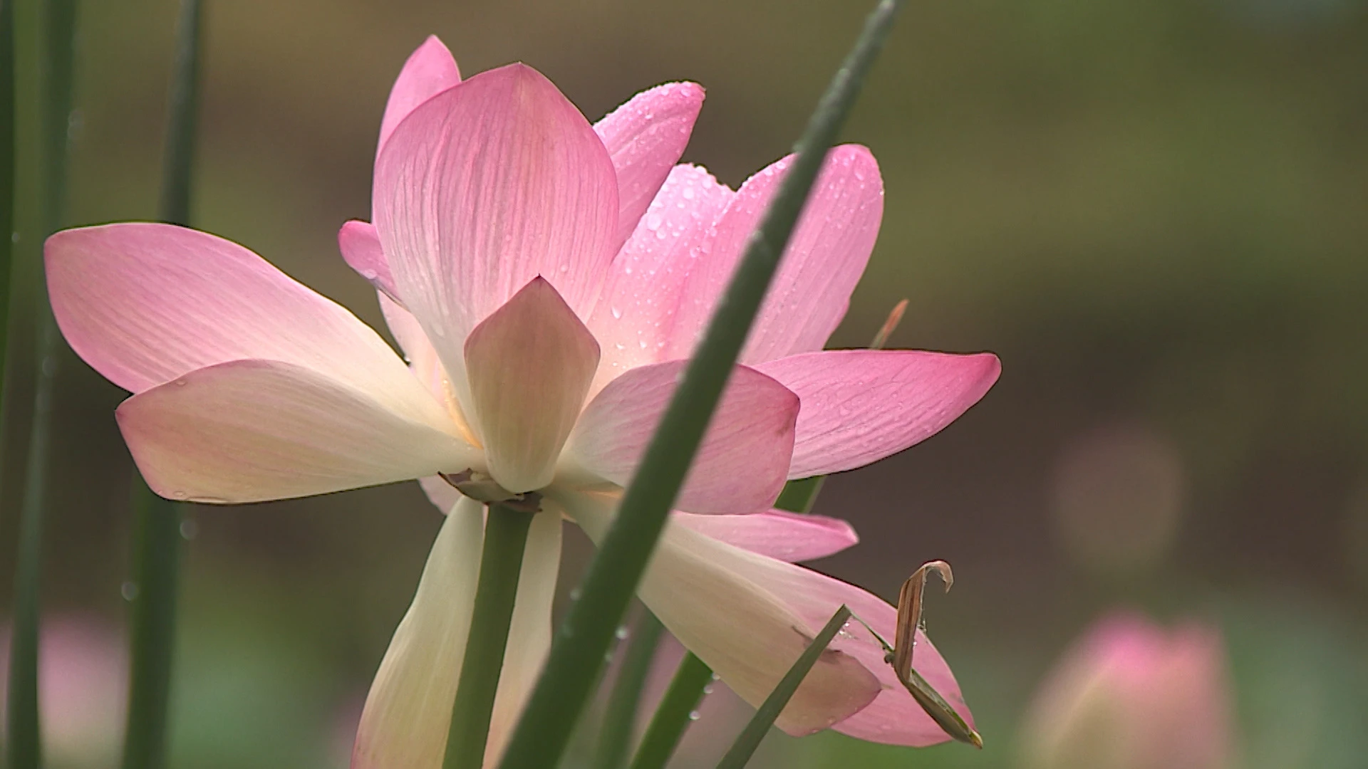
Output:
<instances>
[{"instance_id":1,"label":"thin blurred green stalk passing the tip of the leftmost petal","mask_svg":"<svg viewBox=\"0 0 1368 769\"><path fill-rule=\"evenodd\" d=\"M41 5L42 41L38 55L41 89L41 178L38 230L51 234L62 223L67 194L67 142L75 64L75 0ZM36 253L34 259L40 256ZM37 272L41 276L41 271ZM34 289L41 290L41 278ZM38 582L42 566L42 523L48 506L52 391L57 374L57 330L52 309L37 302L37 369L33 421L25 457L19 508L19 551L15 557L14 624L10 642L8 757L10 769L41 765L38 724Z\"/></svg>"}]
</instances>

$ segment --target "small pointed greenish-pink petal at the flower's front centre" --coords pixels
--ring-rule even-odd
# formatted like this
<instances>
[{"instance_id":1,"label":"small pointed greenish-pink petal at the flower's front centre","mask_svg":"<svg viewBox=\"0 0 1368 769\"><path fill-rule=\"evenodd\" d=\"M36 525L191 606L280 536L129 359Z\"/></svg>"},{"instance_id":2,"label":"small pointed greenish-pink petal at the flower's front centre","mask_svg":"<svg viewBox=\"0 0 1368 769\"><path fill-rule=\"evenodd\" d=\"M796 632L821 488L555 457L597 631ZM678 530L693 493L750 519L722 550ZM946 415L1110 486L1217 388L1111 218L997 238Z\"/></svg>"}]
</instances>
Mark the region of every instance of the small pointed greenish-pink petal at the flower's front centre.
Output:
<instances>
[{"instance_id":1,"label":"small pointed greenish-pink petal at the flower's front centre","mask_svg":"<svg viewBox=\"0 0 1368 769\"><path fill-rule=\"evenodd\" d=\"M594 335L543 278L471 331L468 402L490 475L503 488L534 491L551 482L598 359Z\"/></svg>"}]
</instances>

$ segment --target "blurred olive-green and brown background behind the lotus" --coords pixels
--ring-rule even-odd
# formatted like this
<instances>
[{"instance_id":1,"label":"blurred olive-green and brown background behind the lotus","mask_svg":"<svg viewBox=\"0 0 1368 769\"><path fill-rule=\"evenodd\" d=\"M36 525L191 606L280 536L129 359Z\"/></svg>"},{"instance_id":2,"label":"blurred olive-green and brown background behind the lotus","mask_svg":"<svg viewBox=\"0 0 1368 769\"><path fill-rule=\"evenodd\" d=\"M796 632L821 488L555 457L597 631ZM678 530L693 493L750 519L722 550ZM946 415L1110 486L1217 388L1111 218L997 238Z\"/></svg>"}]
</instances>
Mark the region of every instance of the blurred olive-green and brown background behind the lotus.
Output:
<instances>
[{"instance_id":1,"label":"blurred olive-green and brown background behind the lotus","mask_svg":"<svg viewBox=\"0 0 1368 769\"><path fill-rule=\"evenodd\" d=\"M698 81L685 160L735 186L787 152L866 10L211 0L194 224L380 324L335 233L369 218L384 99L424 36L466 74L535 66L590 119ZM175 11L81 8L73 223L155 215ZM893 598L922 561L955 565L930 627L988 748L772 735L757 765L1015 766L1040 679L1115 606L1222 629L1241 766L1368 765L1364 3L912 3L844 135L878 157L886 212L832 345L907 297L892 346L993 350L1003 376L932 441L832 479L817 512L863 543L814 566ZM49 754L108 766L123 394L71 360L57 397L42 599L83 705L49 718ZM416 484L196 509L172 766L345 766L438 523ZM562 594L590 553L568 535ZM677 765L715 761L746 713L718 687Z\"/></svg>"}]
</instances>

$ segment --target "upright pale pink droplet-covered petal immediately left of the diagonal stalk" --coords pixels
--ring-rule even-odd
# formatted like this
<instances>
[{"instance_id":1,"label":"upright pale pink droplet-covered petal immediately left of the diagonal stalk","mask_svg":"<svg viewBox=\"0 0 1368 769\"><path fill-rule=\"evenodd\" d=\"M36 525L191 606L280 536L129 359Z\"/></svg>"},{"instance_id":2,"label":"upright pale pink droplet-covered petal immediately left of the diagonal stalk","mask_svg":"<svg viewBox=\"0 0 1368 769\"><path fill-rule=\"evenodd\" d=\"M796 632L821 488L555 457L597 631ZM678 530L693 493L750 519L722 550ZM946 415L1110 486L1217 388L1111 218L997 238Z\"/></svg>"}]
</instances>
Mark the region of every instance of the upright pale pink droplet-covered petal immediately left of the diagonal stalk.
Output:
<instances>
[{"instance_id":1,"label":"upright pale pink droplet-covered petal immediately left of the diagonal stalk","mask_svg":"<svg viewBox=\"0 0 1368 769\"><path fill-rule=\"evenodd\" d=\"M735 193L705 168L676 166L609 268L588 327L603 346L591 391L663 360L698 250Z\"/></svg>"}]
</instances>

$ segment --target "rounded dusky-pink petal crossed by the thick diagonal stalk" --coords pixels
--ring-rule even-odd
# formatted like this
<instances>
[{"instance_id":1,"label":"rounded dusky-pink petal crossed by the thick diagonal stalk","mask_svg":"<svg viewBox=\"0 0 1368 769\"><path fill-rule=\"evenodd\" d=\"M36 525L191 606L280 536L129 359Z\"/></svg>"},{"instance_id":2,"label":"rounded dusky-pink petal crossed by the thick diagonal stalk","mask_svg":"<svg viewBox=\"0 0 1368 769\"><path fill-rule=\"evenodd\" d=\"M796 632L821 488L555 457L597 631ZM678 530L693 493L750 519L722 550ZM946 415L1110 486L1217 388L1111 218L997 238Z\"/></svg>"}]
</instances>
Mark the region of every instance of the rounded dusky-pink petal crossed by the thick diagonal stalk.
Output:
<instances>
[{"instance_id":1,"label":"rounded dusky-pink petal crossed by the thick diagonal stalk","mask_svg":"<svg viewBox=\"0 0 1368 769\"><path fill-rule=\"evenodd\" d=\"M587 471L627 486L669 405L685 361L633 368L580 416L569 452ZM732 372L676 505L694 513L759 512L778 497L793 446L798 398L746 367Z\"/></svg>"}]
</instances>

